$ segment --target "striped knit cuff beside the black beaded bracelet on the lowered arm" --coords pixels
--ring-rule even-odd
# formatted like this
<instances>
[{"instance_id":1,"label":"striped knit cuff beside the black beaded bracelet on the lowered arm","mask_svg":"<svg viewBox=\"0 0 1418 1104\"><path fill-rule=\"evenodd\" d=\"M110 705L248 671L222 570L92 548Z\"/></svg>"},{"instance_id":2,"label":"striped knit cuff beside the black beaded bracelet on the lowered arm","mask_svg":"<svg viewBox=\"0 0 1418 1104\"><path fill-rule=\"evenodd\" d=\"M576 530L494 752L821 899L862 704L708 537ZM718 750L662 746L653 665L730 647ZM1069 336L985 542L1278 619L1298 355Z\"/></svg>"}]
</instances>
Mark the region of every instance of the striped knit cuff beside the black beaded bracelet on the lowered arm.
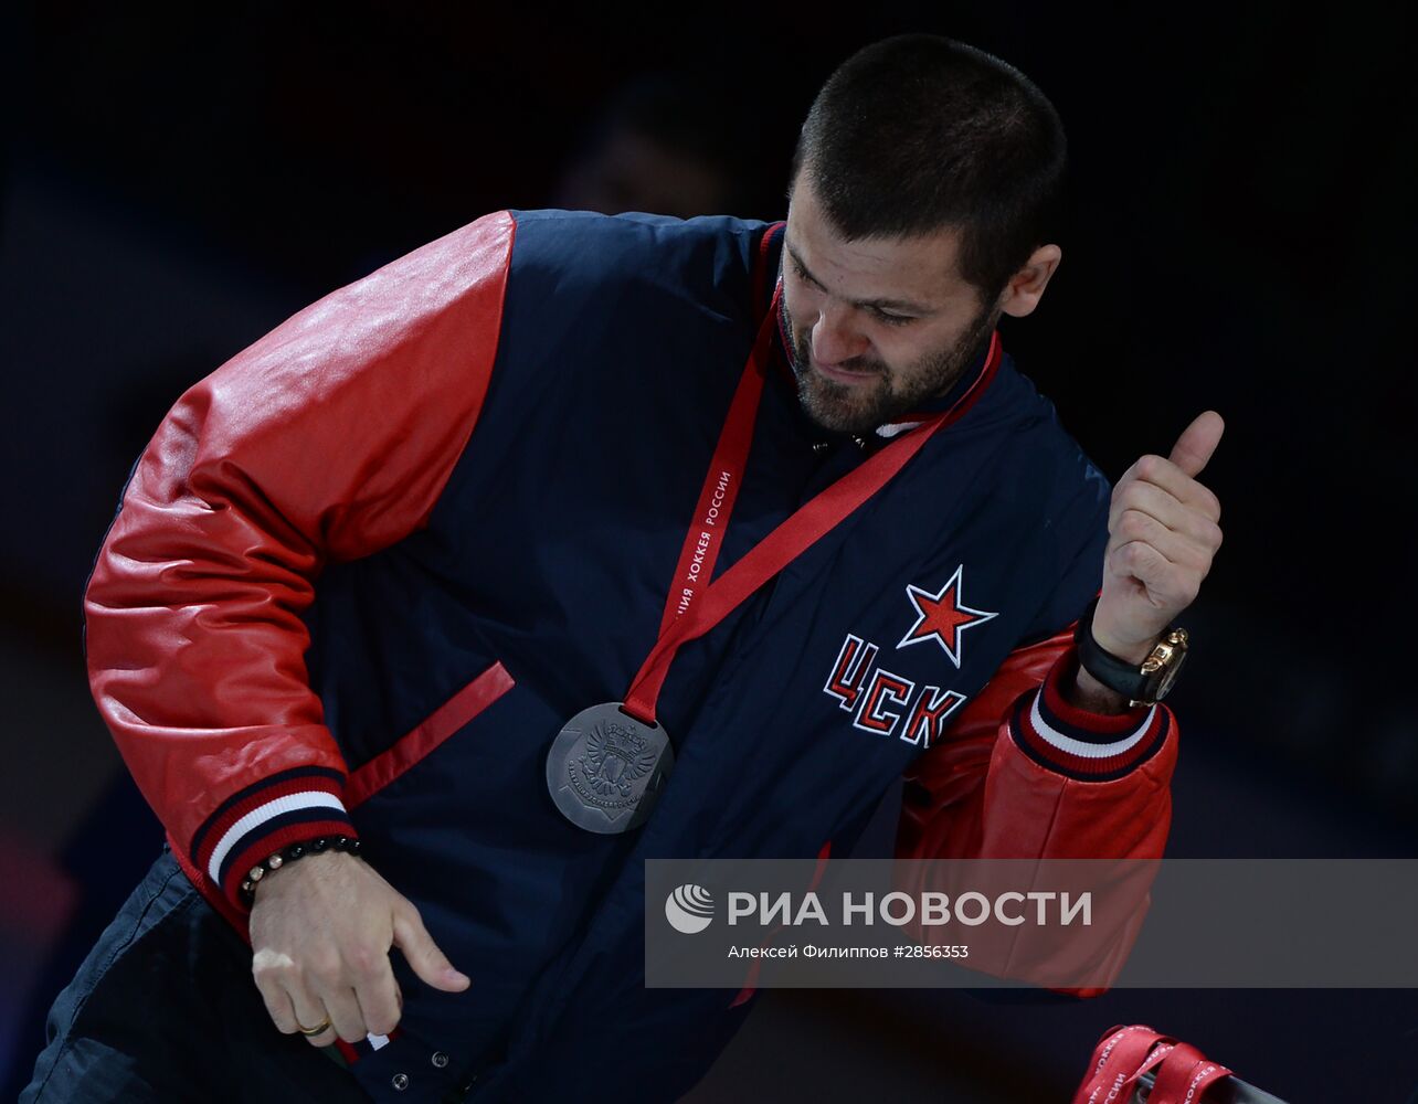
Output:
<instances>
[{"instance_id":1,"label":"striped knit cuff beside the black beaded bracelet on the lowered arm","mask_svg":"<svg viewBox=\"0 0 1418 1104\"><path fill-rule=\"evenodd\" d=\"M343 785L340 771L298 767L247 787L227 798L193 835L193 866L245 913L237 890L262 859L316 836L357 838L340 798Z\"/></svg>"}]
</instances>

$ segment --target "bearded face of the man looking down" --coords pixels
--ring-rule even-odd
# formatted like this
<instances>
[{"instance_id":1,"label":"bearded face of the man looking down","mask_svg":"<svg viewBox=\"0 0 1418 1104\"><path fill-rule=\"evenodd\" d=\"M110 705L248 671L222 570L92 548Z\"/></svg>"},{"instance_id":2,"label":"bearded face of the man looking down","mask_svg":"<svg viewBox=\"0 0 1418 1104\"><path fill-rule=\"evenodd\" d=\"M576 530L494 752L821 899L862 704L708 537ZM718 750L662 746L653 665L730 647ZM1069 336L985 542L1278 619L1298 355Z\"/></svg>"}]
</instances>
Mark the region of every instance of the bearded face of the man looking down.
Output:
<instances>
[{"instance_id":1,"label":"bearded face of the man looking down","mask_svg":"<svg viewBox=\"0 0 1418 1104\"><path fill-rule=\"evenodd\" d=\"M868 434L943 394L1000 310L956 266L957 231L844 241L798 173L783 251L783 317L798 398L818 425Z\"/></svg>"}]
</instances>

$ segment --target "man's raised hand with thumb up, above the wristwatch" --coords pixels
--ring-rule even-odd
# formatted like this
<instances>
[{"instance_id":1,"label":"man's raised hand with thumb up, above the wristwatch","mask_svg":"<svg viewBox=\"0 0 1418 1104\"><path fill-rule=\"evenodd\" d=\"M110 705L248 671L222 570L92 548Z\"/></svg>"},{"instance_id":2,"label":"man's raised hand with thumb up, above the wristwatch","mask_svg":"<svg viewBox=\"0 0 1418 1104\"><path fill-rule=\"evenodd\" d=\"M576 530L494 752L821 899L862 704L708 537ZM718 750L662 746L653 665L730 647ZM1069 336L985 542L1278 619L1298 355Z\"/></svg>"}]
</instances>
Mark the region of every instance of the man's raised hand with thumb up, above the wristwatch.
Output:
<instances>
[{"instance_id":1,"label":"man's raised hand with thumb up, above the wristwatch","mask_svg":"<svg viewBox=\"0 0 1418 1104\"><path fill-rule=\"evenodd\" d=\"M1222 429L1215 411L1198 414L1171 455L1141 456L1113 488L1093 639L1119 659L1141 662L1211 570L1221 502L1197 476Z\"/></svg>"}]
</instances>

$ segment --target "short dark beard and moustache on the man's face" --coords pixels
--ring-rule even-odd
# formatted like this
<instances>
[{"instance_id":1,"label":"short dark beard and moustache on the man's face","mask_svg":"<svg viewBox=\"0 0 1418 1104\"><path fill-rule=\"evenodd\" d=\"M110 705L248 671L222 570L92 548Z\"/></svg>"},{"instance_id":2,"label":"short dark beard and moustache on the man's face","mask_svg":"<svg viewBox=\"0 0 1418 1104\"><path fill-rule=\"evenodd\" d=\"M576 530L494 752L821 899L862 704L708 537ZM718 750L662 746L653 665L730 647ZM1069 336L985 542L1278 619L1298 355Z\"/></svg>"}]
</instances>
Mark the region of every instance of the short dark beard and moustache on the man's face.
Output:
<instances>
[{"instance_id":1,"label":"short dark beard and moustache on the man's face","mask_svg":"<svg viewBox=\"0 0 1418 1104\"><path fill-rule=\"evenodd\" d=\"M892 373L885 363L868 357L842 361L849 371L875 376L869 383L844 384L813 368L810 339L798 336L786 299L781 308L803 411L824 429L856 436L900 421L922 402L946 394L984 351L1000 320L1000 312L983 309L953 346L929 353L903 371Z\"/></svg>"}]
</instances>

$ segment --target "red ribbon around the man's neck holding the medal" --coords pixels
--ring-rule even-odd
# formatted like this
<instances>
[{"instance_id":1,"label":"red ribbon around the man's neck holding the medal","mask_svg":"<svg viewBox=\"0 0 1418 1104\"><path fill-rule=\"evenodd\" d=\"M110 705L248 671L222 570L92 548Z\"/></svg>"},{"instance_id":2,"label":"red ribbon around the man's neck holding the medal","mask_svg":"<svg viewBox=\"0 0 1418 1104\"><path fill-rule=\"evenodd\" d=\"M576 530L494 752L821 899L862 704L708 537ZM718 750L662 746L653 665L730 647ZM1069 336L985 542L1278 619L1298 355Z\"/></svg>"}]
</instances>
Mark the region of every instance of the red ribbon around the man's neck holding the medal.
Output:
<instances>
[{"instance_id":1,"label":"red ribbon around the man's neck holding the medal","mask_svg":"<svg viewBox=\"0 0 1418 1104\"><path fill-rule=\"evenodd\" d=\"M713 629L759 587L881 490L912 456L920 452L937 429L959 419L974 404L1000 367L1000 334L995 332L990 336L990 351L980 374L950 410L934 414L915 429L896 436L861 466L800 506L739 563L709 582L747 468L781 295L783 286L778 285L729 405L729 415L719 434L713 459L709 462L703 489L699 492L695 520L685 536L685 546L665 601L659 638L635 675L630 693L625 694L623 709L644 724L655 724L655 703L681 645Z\"/></svg>"}]
</instances>

